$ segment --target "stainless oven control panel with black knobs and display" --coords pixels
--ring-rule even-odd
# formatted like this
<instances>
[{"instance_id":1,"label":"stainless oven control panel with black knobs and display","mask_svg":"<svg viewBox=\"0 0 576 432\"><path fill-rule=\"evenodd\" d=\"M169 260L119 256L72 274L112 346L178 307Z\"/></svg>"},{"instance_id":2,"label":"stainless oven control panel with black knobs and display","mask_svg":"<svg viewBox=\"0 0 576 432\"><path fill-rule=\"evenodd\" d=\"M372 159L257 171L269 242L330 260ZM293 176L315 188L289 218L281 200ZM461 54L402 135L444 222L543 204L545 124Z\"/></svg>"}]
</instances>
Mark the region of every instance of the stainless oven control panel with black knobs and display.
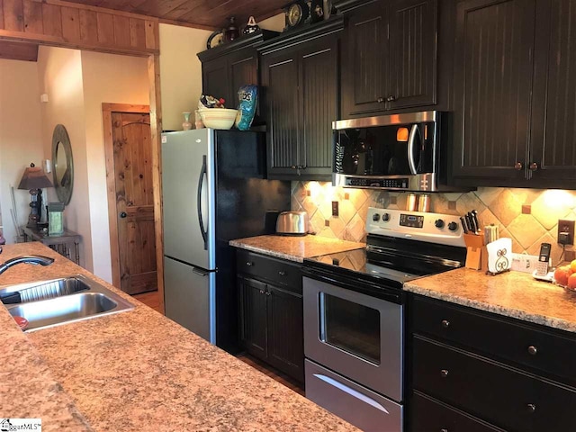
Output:
<instances>
[{"instance_id":1,"label":"stainless oven control panel with black knobs and display","mask_svg":"<svg viewBox=\"0 0 576 432\"><path fill-rule=\"evenodd\" d=\"M373 235L464 247L460 220L451 214L370 207L366 215L366 231Z\"/></svg>"}]
</instances>

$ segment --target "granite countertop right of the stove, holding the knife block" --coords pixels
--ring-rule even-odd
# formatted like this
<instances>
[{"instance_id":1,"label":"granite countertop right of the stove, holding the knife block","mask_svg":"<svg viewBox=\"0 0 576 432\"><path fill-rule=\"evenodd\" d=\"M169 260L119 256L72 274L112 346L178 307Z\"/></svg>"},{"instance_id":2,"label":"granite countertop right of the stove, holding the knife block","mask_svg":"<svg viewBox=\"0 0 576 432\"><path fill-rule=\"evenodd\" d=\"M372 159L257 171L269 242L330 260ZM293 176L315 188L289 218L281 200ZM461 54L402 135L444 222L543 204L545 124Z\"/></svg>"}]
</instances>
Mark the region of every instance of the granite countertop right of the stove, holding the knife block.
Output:
<instances>
[{"instance_id":1,"label":"granite countertop right of the stove, holding the knife block","mask_svg":"<svg viewBox=\"0 0 576 432\"><path fill-rule=\"evenodd\" d=\"M491 276L458 268L406 283L404 290L576 332L576 293L536 281L527 273L511 271Z\"/></svg>"}]
</instances>

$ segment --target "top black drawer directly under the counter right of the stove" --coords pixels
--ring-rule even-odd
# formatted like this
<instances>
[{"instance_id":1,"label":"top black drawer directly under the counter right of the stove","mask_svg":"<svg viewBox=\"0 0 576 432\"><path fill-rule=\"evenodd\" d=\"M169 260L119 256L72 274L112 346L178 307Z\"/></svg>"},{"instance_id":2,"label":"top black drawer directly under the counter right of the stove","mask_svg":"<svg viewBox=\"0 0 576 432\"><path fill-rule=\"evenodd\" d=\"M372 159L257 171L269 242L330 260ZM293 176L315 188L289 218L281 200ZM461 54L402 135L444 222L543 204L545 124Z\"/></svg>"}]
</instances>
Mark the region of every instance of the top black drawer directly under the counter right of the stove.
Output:
<instances>
[{"instance_id":1,"label":"top black drawer directly under the counter right of the stove","mask_svg":"<svg viewBox=\"0 0 576 432\"><path fill-rule=\"evenodd\" d=\"M418 297L414 297L412 317L415 333L456 342L576 384L576 338Z\"/></svg>"}]
</instances>

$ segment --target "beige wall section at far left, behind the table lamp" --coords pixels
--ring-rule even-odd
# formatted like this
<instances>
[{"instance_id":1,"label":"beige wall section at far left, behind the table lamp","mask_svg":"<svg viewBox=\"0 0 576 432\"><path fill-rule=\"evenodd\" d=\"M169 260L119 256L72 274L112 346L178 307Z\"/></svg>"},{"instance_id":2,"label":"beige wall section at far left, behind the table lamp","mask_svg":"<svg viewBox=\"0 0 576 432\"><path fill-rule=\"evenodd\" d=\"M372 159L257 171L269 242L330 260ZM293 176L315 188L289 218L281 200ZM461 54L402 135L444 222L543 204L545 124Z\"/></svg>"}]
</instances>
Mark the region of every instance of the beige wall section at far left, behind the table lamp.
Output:
<instances>
[{"instance_id":1,"label":"beige wall section at far left, behind the table lamp","mask_svg":"<svg viewBox=\"0 0 576 432\"><path fill-rule=\"evenodd\" d=\"M30 193L16 188L25 167L31 162L41 166L45 158L38 85L37 63L0 59L0 212L7 243L14 243L16 236L10 185L14 186L18 225L22 226L30 214ZM47 201L46 190L43 198Z\"/></svg>"}]
</instances>

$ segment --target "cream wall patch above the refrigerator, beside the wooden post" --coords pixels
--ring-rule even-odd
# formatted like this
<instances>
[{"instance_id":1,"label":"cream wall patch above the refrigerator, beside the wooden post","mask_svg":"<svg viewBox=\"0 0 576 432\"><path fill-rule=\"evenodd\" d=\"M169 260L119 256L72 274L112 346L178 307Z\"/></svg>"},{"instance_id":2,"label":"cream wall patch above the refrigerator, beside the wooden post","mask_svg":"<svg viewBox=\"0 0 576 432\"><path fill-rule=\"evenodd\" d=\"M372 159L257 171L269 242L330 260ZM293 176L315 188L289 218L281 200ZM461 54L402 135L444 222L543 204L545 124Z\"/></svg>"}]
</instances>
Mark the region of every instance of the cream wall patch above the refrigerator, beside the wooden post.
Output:
<instances>
[{"instance_id":1,"label":"cream wall patch above the refrigerator, beside the wooden post","mask_svg":"<svg viewBox=\"0 0 576 432\"><path fill-rule=\"evenodd\" d=\"M211 31L160 24L160 89L162 129L182 130L182 112L193 112L202 95L202 63ZM192 119L193 121L193 119Z\"/></svg>"}]
</instances>

